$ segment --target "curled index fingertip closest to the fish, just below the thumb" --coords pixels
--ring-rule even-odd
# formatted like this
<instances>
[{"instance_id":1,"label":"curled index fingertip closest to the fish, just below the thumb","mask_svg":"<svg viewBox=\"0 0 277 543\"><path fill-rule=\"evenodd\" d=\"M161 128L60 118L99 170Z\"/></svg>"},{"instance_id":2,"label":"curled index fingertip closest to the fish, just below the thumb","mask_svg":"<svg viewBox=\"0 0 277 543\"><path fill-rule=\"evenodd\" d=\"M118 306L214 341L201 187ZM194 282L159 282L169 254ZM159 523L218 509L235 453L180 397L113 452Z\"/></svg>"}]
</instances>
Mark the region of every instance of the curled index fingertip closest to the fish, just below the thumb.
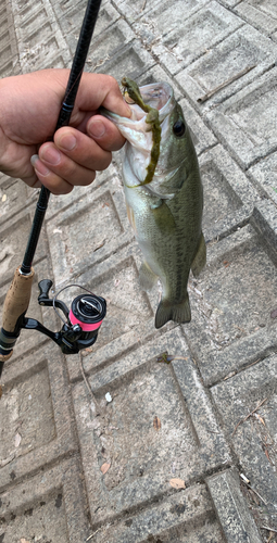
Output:
<instances>
[{"instance_id":1,"label":"curled index fingertip closest to the fish, just below the thumb","mask_svg":"<svg viewBox=\"0 0 277 543\"><path fill-rule=\"evenodd\" d=\"M105 151L118 151L126 141L118 128L102 115L90 117L87 132Z\"/></svg>"}]
</instances>

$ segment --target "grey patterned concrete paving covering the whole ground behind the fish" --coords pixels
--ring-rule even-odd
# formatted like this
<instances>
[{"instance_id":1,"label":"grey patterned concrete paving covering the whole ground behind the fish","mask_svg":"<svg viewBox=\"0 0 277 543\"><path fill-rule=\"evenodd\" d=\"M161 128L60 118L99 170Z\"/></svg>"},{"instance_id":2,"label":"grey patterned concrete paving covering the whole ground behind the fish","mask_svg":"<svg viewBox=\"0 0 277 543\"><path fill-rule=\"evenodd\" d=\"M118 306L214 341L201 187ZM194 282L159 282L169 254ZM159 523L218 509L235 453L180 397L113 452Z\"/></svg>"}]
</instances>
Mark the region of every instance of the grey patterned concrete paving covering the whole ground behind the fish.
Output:
<instances>
[{"instance_id":1,"label":"grey patterned concrete paving covering the whole ground behind the fish","mask_svg":"<svg viewBox=\"0 0 277 543\"><path fill-rule=\"evenodd\" d=\"M1 77L70 66L84 10L1 0ZM103 1L87 70L173 85L201 164L207 266L190 281L191 324L156 331L119 155L90 188L51 199L36 285L77 281L108 300L83 356L101 416L78 356L23 332L0 402L1 543L277 541L276 55L275 0ZM1 302L36 200L0 177ZM60 328L36 285L28 315Z\"/></svg>"}]
</instances>

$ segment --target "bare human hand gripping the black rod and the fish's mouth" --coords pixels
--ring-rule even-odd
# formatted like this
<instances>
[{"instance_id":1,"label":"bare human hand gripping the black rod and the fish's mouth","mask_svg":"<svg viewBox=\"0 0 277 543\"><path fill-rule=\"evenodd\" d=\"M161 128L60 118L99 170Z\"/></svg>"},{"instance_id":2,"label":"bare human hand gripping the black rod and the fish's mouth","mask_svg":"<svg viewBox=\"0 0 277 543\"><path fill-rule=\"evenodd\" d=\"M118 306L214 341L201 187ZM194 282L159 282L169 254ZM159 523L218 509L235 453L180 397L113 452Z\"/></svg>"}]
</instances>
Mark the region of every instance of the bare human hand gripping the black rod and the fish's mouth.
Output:
<instances>
[{"instance_id":1,"label":"bare human hand gripping the black rod and the fish's mouth","mask_svg":"<svg viewBox=\"0 0 277 543\"><path fill-rule=\"evenodd\" d=\"M113 77L84 73L71 126L47 141L53 137L68 74L43 70L0 80L0 171L29 187L42 184L53 194L92 182L96 171L109 166L111 151L124 144L116 126L97 114L100 105L130 116Z\"/></svg>"}]
</instances>

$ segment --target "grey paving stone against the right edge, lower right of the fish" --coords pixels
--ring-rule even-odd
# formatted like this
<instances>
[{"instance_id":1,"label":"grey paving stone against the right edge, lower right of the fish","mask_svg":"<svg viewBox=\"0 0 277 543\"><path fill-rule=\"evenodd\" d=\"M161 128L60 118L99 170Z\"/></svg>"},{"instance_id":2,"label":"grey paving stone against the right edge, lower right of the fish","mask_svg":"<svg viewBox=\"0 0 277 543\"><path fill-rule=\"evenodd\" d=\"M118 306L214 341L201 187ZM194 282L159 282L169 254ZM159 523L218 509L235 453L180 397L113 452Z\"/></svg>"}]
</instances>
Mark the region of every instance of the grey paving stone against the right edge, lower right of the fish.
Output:
<instances>
[{"instance_id":1,"label":"grey paving stone against the right edge, lower right of the fish","mask_svg":"<svg viewBox=\"0 0 277 543\"><path fill-rule=\"evenodd\" d=\"M274 529L277 526L276 364L276 355L272 355L211 389L240 469L250 488L259 493L257 496L249 492L251 508L263 526ZM253 409L256 411L249 416Z\"/></svg>"}]
</instances>

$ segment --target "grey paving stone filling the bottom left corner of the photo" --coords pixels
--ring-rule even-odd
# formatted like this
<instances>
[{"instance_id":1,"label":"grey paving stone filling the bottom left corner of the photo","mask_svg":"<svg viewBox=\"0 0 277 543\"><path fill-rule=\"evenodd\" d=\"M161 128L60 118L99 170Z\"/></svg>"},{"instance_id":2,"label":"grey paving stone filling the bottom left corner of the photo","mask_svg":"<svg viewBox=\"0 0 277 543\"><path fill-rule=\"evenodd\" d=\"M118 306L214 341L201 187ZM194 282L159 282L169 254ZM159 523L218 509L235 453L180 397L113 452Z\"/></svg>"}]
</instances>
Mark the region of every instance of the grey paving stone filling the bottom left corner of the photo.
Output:
<instances>
[{"instance_id":1,"label":"grey paving stone filling the bottom left corner of the photo","mask_svg":"<svg viewBox=\"0 0 277 543\"><path fill-rule=\"evenodd\" d=\"M80 476L75 457L11 484L1 494L2 542L85 543L89 531Z\"/></svg>"}]
</instances>

